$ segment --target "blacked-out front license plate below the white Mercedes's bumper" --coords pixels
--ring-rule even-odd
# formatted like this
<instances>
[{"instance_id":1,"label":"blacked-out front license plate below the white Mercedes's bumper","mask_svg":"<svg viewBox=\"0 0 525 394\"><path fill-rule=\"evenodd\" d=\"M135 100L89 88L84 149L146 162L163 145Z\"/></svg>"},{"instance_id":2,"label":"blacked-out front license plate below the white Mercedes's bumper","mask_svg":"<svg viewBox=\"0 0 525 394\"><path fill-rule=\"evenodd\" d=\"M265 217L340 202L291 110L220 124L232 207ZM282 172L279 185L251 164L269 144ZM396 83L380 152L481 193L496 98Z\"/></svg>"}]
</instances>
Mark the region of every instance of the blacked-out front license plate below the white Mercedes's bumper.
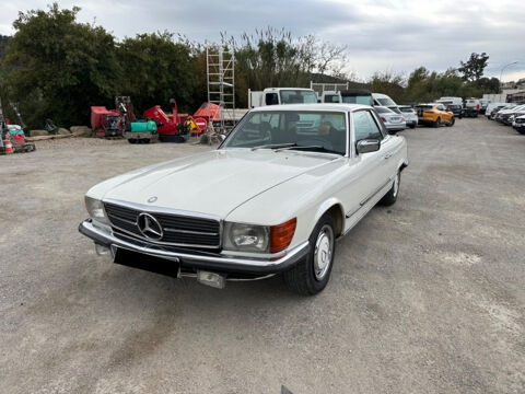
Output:
<instances>
[{"instance_id":1,"label":"blacked-out front license plate below the white Mercedes's bumper","mask_svg":"<svg viewBox=\"0 0 525 394\"><path fill-rule=\"evenodd\" d=\"M172 278L180 277L180 262L137 253L120 247L117 247L115 251L114 263Z\"/></svg>"}]
</instances>

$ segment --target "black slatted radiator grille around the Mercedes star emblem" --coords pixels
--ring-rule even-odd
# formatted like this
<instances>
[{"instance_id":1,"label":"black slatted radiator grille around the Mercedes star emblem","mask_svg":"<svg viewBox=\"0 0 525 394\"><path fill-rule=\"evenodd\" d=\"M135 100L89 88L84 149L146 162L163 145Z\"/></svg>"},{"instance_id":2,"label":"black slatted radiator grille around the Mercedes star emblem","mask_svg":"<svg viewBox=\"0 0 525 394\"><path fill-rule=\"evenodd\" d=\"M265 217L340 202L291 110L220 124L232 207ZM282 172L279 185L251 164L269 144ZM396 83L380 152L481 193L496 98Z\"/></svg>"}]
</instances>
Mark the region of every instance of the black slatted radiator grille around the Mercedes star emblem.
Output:
<instances>
[{"instance_id":1,"label":"black slatted radiator grille around the Mercedes star emblem","mask_svg":"<svg viewBox=\"0 0 525 394\"><path fill-rule=\"evenodd\" d=\"M104 208L115 232L124 232L149 242L172 245L219 248L221 246L221 223L217 219L139 210L116 204L104 202ZM162 237L152 240L139 229L139 216L148 213L162 228Z\"/></svg>"}]
</instances>

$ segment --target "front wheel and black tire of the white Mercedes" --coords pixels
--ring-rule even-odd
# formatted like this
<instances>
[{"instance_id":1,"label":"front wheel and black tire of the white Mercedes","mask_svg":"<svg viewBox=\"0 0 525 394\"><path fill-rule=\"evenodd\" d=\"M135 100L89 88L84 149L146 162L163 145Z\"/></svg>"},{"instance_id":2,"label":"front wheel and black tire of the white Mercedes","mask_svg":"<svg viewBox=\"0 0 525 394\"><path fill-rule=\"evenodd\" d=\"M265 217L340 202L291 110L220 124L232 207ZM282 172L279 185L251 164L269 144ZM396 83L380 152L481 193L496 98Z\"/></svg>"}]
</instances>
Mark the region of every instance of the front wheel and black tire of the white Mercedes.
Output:
<instances>
[{"instance_id":1,"label":"front wheel and black tire of the white Mercedes","mask_svg":"<svg viewBox=\"0 0 525 394\"><path fill-rule=\"evenodd\" d=\"M323 215L308 242L308 255L283 275L289 289L302 296L319 293L330 279L336 254L336 233L330 213ZM322 262L317 263L319 257Z\"/></svg>"}]
</instances>

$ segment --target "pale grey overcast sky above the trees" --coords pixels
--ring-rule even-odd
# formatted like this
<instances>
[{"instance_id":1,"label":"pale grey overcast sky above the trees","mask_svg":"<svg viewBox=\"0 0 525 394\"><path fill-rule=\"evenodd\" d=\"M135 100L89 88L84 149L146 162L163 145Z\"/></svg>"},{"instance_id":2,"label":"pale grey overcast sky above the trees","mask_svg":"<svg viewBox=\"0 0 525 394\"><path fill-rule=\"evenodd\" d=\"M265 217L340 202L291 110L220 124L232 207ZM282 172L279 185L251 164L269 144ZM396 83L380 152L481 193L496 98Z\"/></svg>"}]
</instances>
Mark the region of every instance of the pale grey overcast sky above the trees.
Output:
<instances>
[{"instance_id":1,"label":"pale grey overcast sky above the trees","mask_svg":"<svg viewBox=\"0 0 525 394\"><path fill-rule=\"evenodd\" d=\"M51 0L2 4L0 34L13 34L19 11L46 9ZM374 71L404 72L416 67L443 71L470 53L486 51L486 76L503 81L525 78L524 0L223 0L223 1L59 1L82 10L79 20L103 25L118 38L171 31L190 39L219 42L220 32L240 35L256 27L285 27L294 36L315 34L346 45L348 71L366 79Z\"/></svg>"}]
</instances>

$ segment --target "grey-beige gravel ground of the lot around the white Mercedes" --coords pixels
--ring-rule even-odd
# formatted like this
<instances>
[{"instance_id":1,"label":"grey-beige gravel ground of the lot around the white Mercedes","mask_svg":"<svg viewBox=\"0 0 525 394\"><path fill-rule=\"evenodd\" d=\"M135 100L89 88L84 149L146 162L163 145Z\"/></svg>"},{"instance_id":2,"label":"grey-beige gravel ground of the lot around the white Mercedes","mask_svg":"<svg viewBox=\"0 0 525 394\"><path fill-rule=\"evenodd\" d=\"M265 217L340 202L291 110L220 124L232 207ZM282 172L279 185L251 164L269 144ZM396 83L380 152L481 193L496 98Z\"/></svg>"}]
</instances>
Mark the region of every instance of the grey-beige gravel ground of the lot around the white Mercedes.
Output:
<instances>
[{"instance_id":1,"label":"grey-beige gravel ground of the lot around the white Mercedes","mask_svg":"<svg viewBox=\"0 0 525 394\"><path fill-rule=\"evenodd\" d=\"M0 392L524 393L525 138L485 118L404 135L397 204L338 243L315 298L113 265L78 233L93 184L211 147L0 157Z\"/></svg>"}]
</instances>

